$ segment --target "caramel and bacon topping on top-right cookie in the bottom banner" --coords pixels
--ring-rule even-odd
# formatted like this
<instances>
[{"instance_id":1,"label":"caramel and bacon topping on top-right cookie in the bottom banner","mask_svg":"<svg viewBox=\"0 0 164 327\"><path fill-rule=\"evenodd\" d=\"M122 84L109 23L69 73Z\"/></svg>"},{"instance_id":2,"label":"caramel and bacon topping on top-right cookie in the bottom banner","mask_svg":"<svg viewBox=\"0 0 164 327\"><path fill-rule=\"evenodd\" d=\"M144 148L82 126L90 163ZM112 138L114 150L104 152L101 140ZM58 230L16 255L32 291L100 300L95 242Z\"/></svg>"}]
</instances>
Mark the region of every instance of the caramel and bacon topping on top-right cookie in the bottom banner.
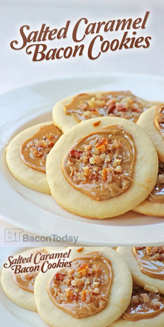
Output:
<instances>
[{"instance_id":1,"label":"caramel and bacon topping on top-right cookie in the bottom banner","mask_svg":"<svg viewBox=\"0 0 164 327\"><path fill-rule=\"evenodd\" d=\"M164 280L164 247L133 247L133 254L144 274Z\"/></svg>"}]
</instances>

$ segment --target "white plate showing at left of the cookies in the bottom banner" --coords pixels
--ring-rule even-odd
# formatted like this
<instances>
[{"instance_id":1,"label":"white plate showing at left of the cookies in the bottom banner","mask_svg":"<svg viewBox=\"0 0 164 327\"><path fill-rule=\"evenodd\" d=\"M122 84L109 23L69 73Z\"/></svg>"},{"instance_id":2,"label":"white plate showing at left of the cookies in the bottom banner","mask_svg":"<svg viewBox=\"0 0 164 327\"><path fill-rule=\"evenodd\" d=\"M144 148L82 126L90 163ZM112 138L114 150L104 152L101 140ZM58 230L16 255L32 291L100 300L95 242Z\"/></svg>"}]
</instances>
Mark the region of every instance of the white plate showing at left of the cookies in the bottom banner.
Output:
<instances>
[{"instance_id":1,"label":"white plate showing at left of the cookies in the bottom banner","mask_svg":"<svg viewBox=\"0 0 164 327\"><path fill-rule=\"evenodd\" d=\"M17 255L27 248L1 248L0 268L6 262L8 255ZM0 284L0 317L1 326L12 327L46 327L45 322L37 312L33 312L11 302L4 294Z\"/></svg>"}]
</instances>

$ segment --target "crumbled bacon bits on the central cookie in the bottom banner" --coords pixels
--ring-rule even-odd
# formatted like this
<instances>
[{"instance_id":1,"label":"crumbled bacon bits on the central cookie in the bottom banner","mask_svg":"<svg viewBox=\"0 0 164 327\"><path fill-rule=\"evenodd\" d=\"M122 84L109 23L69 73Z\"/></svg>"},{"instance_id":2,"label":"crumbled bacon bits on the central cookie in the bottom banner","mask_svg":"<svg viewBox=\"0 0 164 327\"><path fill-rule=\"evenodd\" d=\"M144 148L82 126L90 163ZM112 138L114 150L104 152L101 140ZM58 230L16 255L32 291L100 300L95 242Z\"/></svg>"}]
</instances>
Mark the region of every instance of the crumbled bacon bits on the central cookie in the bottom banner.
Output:
<instances>
[{"instance_id":1,"label":"crumbled bacon bits on the central cookie in the bottom banner","mask_svg":"<svg viewBox=\"0 0 164 327\"><path fill-rule=\"evenodd\" d=\"M80 262L67 268L66 274L56 273L52 287L54 297L60 303L82 301L87 304L96 301L100 307L103 303L101 283L104 284L104 271L100 265Z\"/></svg>"}]
</instances>

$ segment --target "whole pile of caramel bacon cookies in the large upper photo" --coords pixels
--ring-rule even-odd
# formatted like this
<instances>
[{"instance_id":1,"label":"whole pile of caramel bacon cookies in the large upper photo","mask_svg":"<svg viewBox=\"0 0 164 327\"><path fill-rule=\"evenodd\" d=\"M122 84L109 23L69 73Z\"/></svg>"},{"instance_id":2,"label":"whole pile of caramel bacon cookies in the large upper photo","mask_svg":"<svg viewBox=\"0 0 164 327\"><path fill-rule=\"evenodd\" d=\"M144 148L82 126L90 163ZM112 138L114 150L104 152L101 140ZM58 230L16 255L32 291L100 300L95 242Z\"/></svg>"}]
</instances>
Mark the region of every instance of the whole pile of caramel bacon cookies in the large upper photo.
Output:
<instances>
[{"instance_id":1,"label":"whole pile of caramel bacon cookies in the large upper photo","mask_svg":"<svg viewBox=\"0 0 164 327\"><path fill-rule=\"evenodd\" d=\"M59 101L51 122L12 139L6 160L18 181L73 214L164 216L164 105L129 91Z\"/></svg>"}]
</instances>

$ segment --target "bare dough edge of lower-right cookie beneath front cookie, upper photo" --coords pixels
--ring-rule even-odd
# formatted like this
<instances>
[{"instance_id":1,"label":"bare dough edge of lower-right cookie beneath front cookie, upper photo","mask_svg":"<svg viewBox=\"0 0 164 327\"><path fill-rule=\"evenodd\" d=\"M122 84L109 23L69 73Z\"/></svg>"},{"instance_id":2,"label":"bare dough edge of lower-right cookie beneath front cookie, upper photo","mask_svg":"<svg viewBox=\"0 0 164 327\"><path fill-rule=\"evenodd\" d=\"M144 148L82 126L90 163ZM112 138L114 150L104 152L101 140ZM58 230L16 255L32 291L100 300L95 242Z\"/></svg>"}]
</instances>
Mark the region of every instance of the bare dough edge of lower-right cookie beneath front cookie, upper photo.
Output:
<instances>
[{"instance_id":1,"label":"bare dough edge of lower-right cookie beneath front cookie, upper photo","mask_svg":"<svg viewBox=\"0 0 164 327\"><path fill-rule=\"evenodd\" d=\"M164 217L164 203L145 200L134 208L133 211L147 216Z\"/></svg>"}]
</instances>

